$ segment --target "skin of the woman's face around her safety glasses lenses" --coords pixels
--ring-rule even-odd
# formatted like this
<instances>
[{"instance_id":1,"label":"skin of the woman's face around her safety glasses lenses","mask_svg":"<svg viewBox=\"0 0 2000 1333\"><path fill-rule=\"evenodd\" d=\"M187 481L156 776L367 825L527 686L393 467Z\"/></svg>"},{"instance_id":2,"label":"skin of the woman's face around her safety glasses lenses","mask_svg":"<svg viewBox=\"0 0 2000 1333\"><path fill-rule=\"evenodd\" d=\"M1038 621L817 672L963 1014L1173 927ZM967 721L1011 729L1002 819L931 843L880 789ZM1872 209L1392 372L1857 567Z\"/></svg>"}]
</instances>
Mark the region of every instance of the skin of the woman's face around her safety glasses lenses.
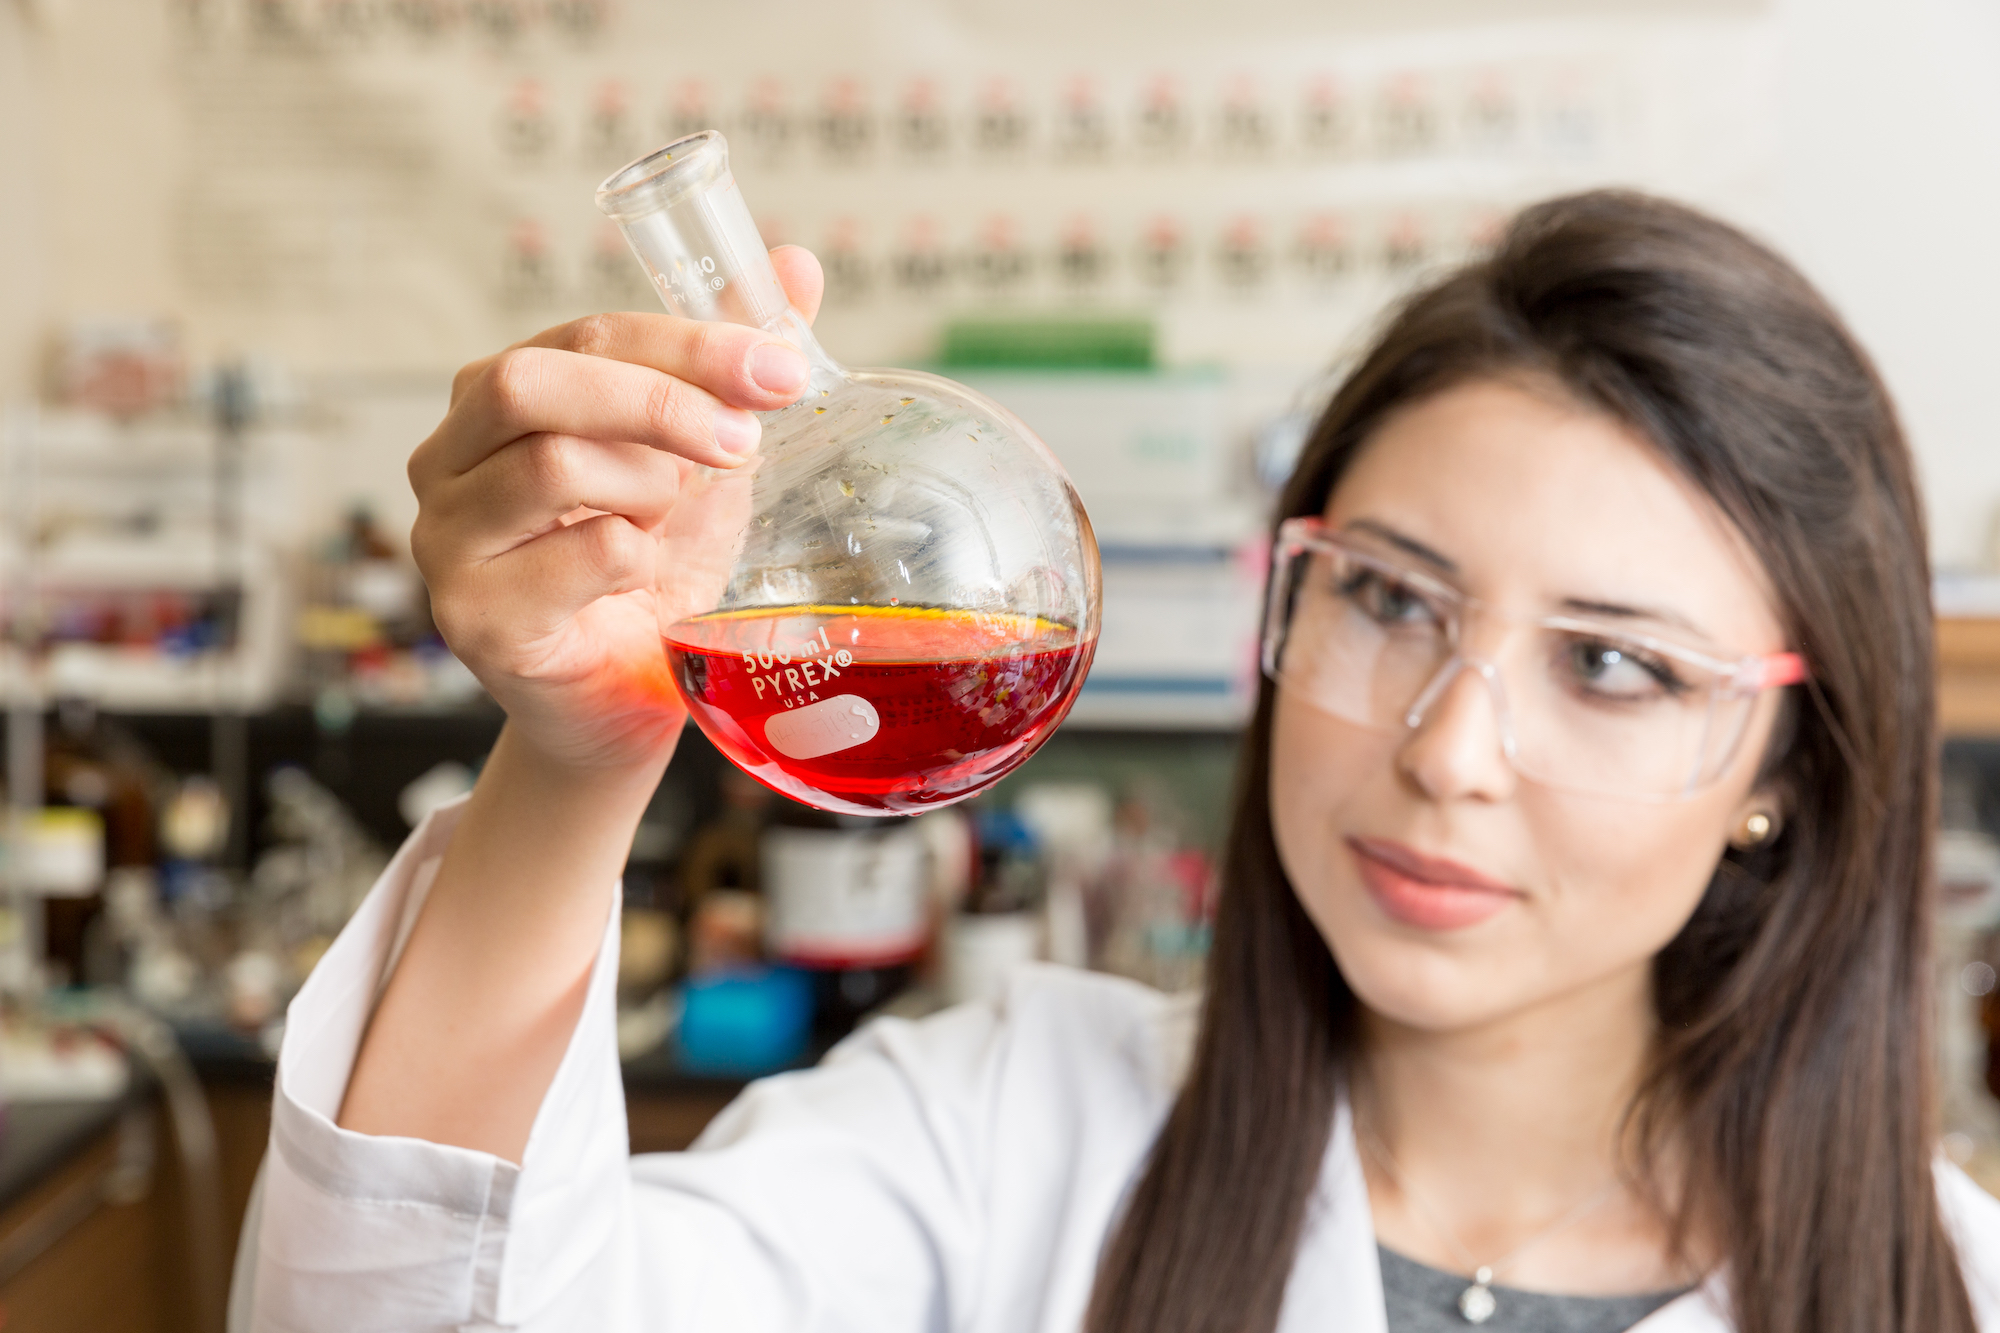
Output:
<instances>
[{"instance_id":1,"label":"skin of the woman's face around her safety glasses lenses","mask_svg":"<svg viewBox=\"0 0 2000 1333\"><path fill-rule=\"evenodd\" d=\"M1510 697L1508 673L1532 654L1506 650L1524 630L1502 616L1628 606L1648 614L1620 616L1624 628L1722 660L1786 648L1764 578L1716 508L1632 430L1554 388L1482 380L1392 414L1324 518L1498 610L1468 650L1502 664ZM1646 803L1520 777L1470 671L1414 731L1370 731L1280 689L1278 853L1348 985L1392 1023L1444 1033L1606 985L1644 993L1730 833L1776 809L1752 783L1778 697L1756 701L1716 783ZM1396 871L1436 879L1436 861L1488 891L1426 897Z\"/></svg>"}]
</instances>

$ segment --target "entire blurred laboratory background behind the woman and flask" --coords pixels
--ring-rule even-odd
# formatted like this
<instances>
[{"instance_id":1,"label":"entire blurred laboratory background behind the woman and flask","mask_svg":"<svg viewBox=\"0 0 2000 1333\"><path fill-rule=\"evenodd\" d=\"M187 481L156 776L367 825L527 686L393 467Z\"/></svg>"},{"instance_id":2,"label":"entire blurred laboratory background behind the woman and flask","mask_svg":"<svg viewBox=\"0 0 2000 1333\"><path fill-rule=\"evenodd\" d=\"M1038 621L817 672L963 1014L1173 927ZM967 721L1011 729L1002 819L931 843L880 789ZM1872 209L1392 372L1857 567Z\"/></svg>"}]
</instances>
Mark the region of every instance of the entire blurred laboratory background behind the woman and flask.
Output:
<instances>
[{"instance_id":1,"label":"entire blurred laboratory background behind the woman and flask","mask_svg":"<svg viewBox=\"0 0 2000 1333\"><path fill-rule=\"evenodd\" d=\"M1104 620L1054 737L912 823L684 735L622 885L636 1149L1026 961L1200 985L1276 488L1386 302L1610 182L1772 238L1898 394L1942 1149L2000 1187L1996 66L1956 0L0 4L8 1333L218 1327L284 1005L502 723L404 460L460 364L660 308L592 192L702 128L828 346L1048 440Z\"/></svg>"}]
</instances>

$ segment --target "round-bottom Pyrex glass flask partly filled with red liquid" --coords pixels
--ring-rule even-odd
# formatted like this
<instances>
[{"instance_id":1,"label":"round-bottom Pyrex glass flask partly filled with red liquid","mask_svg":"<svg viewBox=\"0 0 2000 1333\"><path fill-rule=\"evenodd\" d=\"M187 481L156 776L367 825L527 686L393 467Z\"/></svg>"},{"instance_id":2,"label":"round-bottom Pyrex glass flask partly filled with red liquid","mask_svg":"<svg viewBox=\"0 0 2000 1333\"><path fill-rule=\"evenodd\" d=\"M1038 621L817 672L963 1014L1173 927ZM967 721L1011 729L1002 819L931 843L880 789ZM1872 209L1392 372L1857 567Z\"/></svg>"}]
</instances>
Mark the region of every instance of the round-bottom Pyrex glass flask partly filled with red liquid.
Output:
<instances>
[{"instance_id":1,"label":"round-bottom Pyrex glass flask partly filled with red liquid","mask_svg":"<svg viewBox=\"0 0 2000 1333\"><path fill-rule=\"evenodd\" d=\"M978 392L846 370L786 304L702 132L598 188L668 310L770 330L812 362L756 458L690 468L660 530L660 632L696 725L826 811L962 801L1050 737L1090 671L1100 570L1048 446Z\"/></svg>"}]
</instances>

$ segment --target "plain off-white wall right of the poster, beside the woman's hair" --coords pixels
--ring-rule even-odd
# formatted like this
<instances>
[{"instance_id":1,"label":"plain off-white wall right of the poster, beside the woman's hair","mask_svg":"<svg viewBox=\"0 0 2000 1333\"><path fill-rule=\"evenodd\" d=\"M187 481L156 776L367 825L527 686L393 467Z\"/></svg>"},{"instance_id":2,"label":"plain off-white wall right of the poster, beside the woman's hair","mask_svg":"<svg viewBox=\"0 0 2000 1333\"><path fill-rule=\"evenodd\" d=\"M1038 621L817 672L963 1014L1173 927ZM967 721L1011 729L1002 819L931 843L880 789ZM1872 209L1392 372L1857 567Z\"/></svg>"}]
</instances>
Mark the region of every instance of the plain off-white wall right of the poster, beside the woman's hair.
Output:
<instances>
[{"instance_id":1,"label":"plain off-white wall right of the poster, beside the woman's hair","mask_svg":"<svg viewBox=\"0 0 2000 1333\"><path fill-rule=\"evenodd\" d=\"M1786 0L1776 238L1874 350L1940 564L1996 564L2000 8Z\"/></svg>"}]
</instances>

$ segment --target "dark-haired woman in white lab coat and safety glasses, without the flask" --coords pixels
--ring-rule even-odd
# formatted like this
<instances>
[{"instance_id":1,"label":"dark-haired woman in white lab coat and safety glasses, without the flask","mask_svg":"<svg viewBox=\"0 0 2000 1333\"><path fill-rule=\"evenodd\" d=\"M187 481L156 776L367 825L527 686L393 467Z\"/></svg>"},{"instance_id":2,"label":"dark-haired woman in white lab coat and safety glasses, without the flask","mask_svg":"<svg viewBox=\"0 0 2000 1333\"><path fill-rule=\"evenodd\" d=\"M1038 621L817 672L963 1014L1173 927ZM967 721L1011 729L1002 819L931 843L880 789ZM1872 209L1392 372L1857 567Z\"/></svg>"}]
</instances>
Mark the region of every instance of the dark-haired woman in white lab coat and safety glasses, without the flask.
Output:
<instances>
[{"instance_id":1,"label":"dark-haired woman in white lab coat and safety glasses, without the flask","mask_svg":"<svg viewBox=\"0 0 2000 1333\"><path fill-rule=\"evenodd\" d=\"M414 544L510 721L292 1007L238 1319L2000 1331L1910 458L1794 270L1632 194L1414 296L1306 446L1198 1015L1034 969L628 1161L646 528L802 382L664 316L460 372Z\"/></svg>"}]
</instances>

